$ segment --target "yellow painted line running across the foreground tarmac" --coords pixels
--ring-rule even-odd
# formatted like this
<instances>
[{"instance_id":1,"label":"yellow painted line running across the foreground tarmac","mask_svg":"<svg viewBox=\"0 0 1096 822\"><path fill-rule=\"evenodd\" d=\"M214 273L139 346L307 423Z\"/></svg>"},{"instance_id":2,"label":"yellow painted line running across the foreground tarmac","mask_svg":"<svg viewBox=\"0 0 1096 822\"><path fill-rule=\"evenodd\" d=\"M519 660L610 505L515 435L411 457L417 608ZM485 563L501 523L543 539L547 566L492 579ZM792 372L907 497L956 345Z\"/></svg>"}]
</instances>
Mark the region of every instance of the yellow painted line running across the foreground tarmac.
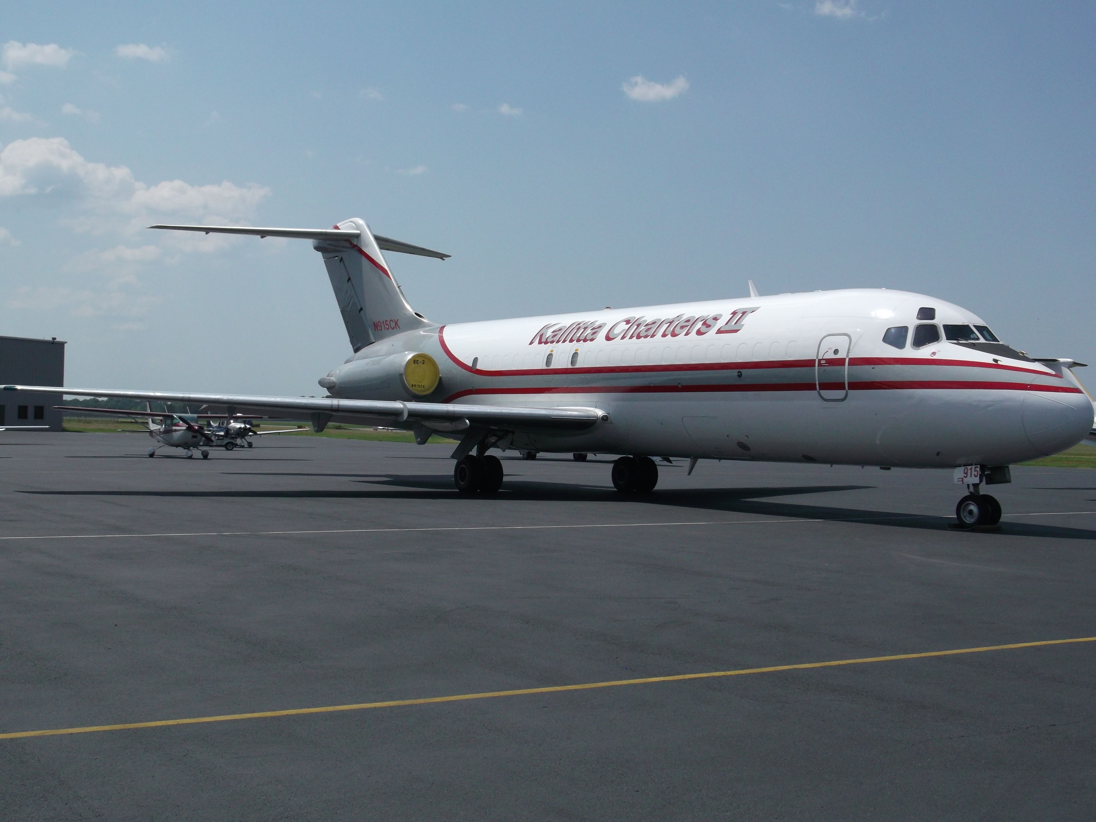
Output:
<instances>
[{"instance_id":1,"label":"yellow painted line running across the foreground tarmac","mask_svg":"<svg viewBox=\"0 0 1096 822\"><path fill-rule=\"evenodd\" d=\"M1096 642L1096 637L1075 639L1044 639L1039 642L1013 642L1007 646L983 646L981 648L957 648L949 651L924 651L922 653L897 653L889 657L864 657L855 660L831 660L829 662L800 662L795 665L769 665L768 667L743 667L738 671L710 671L701 674L674 674L673 676L646 676L639 680L612 680L609 682L587 682L580 685L551 685L543 688L516 688L513 690L489 690L481 694L455 694L453 696L429 696L422 699L390 699L383 703L358 703L355 705L328 705L320 708L289 708L287 710L263 710L253 713L224 713L216 717L190 717L186 719L159 719L151 722L123 722L119 724L96 724L83 728L53 728L44 731L14 731L0 733L0 739L23 739L26 737L61 737L72 733L98 733L100 731L128 731L137 728L163 728L176 724L202 724L205 722L229 722L238 719L270 719L272 717L297 717L306 713L334 713L342 710L368 710L370 708L401 708L410 705L433 705L435 703L461 703L470 699L494 699L501 696L529 696L532 694L558 694L564 690L592 690L614 688L621 685L650 685L658 682L685 682L686 680L713 680L721 676L743 676L745 674L772 674L779 671L807 671L815 667L838 667L841 665L863 665L868 662L894 662L897 660L922 660L932 657L955 657L985 651L1008 651L1017 648L1039 648L1076 642Z\"/></svg>"}]
</instances>

